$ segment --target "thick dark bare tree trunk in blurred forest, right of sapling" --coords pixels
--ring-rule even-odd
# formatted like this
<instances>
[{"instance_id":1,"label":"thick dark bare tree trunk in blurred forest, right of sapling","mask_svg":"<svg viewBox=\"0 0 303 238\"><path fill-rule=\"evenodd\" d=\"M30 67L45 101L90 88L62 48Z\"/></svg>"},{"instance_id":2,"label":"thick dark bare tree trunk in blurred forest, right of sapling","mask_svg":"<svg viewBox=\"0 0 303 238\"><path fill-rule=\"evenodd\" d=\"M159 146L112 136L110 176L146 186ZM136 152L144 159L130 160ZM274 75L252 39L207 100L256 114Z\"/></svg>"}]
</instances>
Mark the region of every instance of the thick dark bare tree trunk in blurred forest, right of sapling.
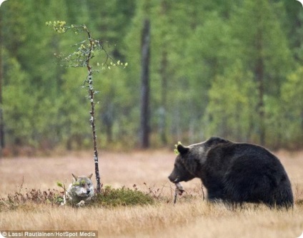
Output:
<instances>
[{"instance_id":1,"label":"thick dark bare tree trunk in blurred forest, right of sapling","mask_svg":"<svg viewBox=\"0 0 303 238\"><path fill-rule=\"evenodd\" d=\"M149 43L150 24L149 19L145 19L141 38L141 148L149 148Z\"/></svg>"}]
</instances>

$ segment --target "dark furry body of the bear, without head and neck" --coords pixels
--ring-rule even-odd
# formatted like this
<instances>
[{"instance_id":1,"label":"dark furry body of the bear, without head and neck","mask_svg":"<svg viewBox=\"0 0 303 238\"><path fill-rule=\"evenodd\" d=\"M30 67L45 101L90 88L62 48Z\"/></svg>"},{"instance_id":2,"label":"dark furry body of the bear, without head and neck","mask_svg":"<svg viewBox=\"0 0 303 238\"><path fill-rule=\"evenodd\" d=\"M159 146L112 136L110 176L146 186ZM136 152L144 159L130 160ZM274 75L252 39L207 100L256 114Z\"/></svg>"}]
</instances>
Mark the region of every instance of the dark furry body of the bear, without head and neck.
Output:
<instances>
[{"instance_id":1,"label":"dark furry body of the bear, without head and neck","mask_svg":"<svg viewBox=\"0 0 303 238\"><path fill-rule=\"evenodd\" d=\"M211 148L202 181L210 197L232 202L292 205L292 189L279 159L259 145L222 143Z\"/></svg>"}]
</instances>

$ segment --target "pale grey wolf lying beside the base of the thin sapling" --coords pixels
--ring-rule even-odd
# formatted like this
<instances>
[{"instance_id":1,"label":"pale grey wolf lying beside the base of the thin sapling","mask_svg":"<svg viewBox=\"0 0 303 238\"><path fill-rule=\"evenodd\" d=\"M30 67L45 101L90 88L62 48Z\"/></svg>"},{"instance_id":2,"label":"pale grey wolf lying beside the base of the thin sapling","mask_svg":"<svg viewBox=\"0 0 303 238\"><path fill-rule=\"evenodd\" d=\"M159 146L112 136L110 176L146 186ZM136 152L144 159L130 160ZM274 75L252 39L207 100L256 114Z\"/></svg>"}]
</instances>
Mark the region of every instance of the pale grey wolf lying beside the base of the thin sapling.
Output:
<instances>
[{"instance_id":1,"label":"pale grey wolf lying beside the base of the thin sapling","mask_svg":"<svg viewBox=\"0 0 303 238\"><path fill-rule=\"evenodd\" d=\"M64 202L62 205L66 204L66 200L70 201L72 205L82 206L86 201L91 200L94 196L94 185L91 182L91 175L89 176L73 176L73 182L69 185L64 196Z\"/></svg>"}]
</instances>

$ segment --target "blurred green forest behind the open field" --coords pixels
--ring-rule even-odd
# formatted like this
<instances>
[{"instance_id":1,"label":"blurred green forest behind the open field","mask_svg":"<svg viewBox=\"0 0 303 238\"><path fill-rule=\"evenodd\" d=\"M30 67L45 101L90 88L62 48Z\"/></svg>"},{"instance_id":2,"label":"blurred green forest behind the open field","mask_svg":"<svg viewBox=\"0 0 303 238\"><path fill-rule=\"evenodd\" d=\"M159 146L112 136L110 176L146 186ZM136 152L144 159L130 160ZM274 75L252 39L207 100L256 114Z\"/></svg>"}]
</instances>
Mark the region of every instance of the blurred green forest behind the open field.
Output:
<instances>
[{"instance_id":1,"label":"blurred green forest behind the open field","mask_svg":"<svg viewBox=\"0 0 303 238\"><path fill-rule=\"evenodd\" d=\"M141 32L149 19L153 148L219 135L303 148L303 8L290 0L8 0L0 8L1 148L91 146L77 43L46 21L86 24L126 68L94 67L101 148L139 145Z\"/></svg>"}]
</instances>

